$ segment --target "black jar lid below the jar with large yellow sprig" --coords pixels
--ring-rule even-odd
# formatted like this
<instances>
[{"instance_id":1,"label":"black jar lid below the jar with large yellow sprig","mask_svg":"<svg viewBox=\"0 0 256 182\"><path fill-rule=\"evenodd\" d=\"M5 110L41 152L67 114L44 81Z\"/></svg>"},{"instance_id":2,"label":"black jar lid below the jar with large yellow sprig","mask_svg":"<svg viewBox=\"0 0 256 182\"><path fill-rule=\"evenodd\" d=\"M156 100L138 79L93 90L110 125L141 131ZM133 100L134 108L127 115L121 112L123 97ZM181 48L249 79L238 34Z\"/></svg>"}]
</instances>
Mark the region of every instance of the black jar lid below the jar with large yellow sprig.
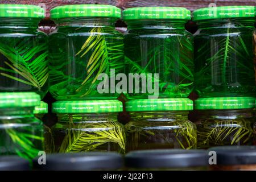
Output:
<instances>
[{"instance_id":1,"label":"black jar lid below the jar with large yellow sprig","mask_svg":"<svg viewBox=\"0 0 256 182\"><path fill-rule=\"evenodd\" d=\"M122 156L115 152L48 154L46 164L41 165L38 158L33 160L34 169L46 171L114 170L121 168L122 164Z\"/></svg>"}]
</instances>

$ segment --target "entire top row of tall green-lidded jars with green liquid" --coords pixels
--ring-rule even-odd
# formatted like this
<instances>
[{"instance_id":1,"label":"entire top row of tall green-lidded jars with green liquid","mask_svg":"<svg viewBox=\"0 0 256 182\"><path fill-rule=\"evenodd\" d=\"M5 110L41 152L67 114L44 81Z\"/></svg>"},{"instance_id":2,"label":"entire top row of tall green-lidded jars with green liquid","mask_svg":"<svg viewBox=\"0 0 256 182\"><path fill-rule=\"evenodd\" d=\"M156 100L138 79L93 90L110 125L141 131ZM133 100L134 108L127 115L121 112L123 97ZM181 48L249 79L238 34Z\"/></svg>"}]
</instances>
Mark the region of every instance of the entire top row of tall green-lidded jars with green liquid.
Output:
<instances>
[{"instance_id":1,"label":"entire top row of tall green-lidded jars with green liquid","mask_svg":"<svg viewBox=\"0 0 256 182\"><path fill-rule=\"evenodd\" d=\"M185 8L130 8L123 11L124 37L114 27L121 18L114 6L55 7L56 30L49 37L38 31L43 9L0 8L0 92L31 91L43 98L49 89L57 100L115 99L119 93L185 98L195 85L200 97L255 96L252 6L194 11L194 36L185 30L191 19ZM129 73L141 77L129 80ZM154 89L143 88L148 84Z\"/></svg>"}]
</instances>

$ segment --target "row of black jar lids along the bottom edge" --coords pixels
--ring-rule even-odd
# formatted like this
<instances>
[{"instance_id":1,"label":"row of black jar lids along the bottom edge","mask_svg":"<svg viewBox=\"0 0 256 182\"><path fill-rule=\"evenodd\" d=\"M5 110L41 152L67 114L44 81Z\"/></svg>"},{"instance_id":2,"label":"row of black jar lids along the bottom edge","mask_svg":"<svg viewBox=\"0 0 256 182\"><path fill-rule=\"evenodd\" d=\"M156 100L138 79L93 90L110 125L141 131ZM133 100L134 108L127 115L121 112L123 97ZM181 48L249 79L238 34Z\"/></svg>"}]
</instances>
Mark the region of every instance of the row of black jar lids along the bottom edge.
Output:
<instances>
[{"instance_id":1,"label":"row of black jar lids along the bottom edge","mask_svg":"<svg viewBox=\"0 0 256 182\"><path fill-rule=\"evenodd\" d=\"M232 155L230 155L232 154ZM212 159L210 159L212 158ZM47 155L46 164L33 160L34 170L254 170L255 146L223 146L205 150L143 150L129 152L123 160L115 152ZM29 170L29 163L14 156L0 156L0 171ZM148 173L143 179L152 179Z\"/></svg>"}]
</instances>

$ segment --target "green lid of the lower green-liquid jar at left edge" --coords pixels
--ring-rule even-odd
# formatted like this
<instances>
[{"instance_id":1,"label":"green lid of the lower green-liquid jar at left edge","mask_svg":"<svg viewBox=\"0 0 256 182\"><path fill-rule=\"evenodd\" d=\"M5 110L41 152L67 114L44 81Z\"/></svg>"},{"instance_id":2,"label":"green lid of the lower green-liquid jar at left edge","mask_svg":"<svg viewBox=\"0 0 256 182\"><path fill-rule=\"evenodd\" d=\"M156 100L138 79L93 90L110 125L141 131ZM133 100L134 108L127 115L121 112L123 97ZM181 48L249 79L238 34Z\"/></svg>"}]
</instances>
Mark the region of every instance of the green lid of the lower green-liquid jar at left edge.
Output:
<instances>
[{"instance_id":1,"label":"green lid of the lower green-liquid jar at left edge","mask_svg":"<svg viewBox=\"0 0 256 182\"><path fill-rule=\"evenodd\" d=\"M34 107L40 105L40 96L35 92L2 92L0 108Z\"/></svg>"}]
</instances>

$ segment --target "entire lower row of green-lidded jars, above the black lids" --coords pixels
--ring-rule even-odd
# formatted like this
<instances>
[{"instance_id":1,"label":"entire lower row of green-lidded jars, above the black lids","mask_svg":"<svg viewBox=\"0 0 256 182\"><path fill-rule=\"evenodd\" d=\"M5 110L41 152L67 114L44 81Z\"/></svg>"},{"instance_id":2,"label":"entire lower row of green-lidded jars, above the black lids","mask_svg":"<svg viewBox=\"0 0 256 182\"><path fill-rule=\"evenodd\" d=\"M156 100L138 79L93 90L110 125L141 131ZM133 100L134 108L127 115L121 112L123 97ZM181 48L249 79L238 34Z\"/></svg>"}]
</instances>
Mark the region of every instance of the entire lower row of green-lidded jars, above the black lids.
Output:
<instances>
[{"instance_id":1,"label":"entire lower row of green-lidded jars, above the black lids","mask_svg":"<svg viewBox=\"0 0 256 182\"><path fill-rule=\"evenodd\" d=\"M117 100L57 101L55 126L44 126L47 111L40 96L31 92L0 93L0 154L32 159L47 153L118 151L167 148L209 148L251 145L255 127L255 98L200 98L198 118L189 121L193 102L188 98L131 100L125 103L131 121L123 126ZM36 112L36 113L34 113ZM255 140L254 140L255 142Z\"/></svg>"}]
</instances>

